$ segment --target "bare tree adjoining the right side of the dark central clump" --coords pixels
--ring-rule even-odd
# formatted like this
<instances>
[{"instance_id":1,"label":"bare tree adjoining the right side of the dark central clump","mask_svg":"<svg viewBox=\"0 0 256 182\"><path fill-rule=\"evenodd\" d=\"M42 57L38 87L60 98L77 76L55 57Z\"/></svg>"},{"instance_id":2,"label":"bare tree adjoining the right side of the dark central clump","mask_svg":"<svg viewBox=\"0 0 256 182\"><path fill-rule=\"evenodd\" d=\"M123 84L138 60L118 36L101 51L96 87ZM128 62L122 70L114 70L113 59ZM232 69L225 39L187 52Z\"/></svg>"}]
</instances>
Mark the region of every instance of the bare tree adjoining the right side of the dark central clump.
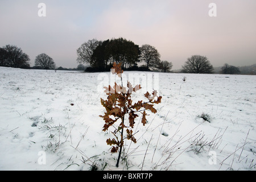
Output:
<instances>
[{"instance_id":1,"label":"bare tree adjoining the right side of the dark central clump","mask_svg":"<svg viewBox=\"0 0 256 182\"><path fill-rule=\"evenodd\" d=\"M140 48L140 51L140 60L146 63L147 69L158 67L160 63L160 53L155 47L152 47L148 44L144 44Z\"/></svg>"}]
</instances>

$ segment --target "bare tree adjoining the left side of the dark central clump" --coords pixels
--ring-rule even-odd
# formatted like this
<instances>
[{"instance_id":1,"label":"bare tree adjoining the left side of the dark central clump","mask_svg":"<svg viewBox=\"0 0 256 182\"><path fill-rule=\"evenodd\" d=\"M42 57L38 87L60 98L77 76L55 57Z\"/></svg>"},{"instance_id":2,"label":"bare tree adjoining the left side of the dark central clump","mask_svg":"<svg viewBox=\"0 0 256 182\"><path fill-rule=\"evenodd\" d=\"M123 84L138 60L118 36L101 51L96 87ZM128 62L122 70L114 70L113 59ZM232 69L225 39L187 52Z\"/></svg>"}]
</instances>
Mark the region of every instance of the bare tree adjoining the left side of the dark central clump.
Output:
<instances>
[{"instance_id":1,"label":"bare tree adjoining the left side of the dark central clump","mask_svg":"<svg viewBox=\"0 0 256 182\"><path fill-rule=\"evenodd\" d=\"M93 51L101 44L101 41L98 41L97 39L88 40L88 42L83 43L78 49L77 49L77 63L83 64L83 63L89 63L91 66L94 65L94 62L96 61L94 59Z\"/></svg>"}]
</instances>

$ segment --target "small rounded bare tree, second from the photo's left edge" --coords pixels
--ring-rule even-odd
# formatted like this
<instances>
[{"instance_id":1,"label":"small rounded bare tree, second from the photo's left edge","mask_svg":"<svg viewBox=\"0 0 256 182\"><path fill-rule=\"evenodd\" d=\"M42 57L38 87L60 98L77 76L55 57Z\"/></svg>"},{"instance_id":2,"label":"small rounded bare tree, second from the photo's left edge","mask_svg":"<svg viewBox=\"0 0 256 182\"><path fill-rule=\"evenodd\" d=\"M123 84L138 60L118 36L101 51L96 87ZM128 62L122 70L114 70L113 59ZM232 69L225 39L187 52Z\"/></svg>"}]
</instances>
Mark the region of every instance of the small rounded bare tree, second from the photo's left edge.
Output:
<instances>
[{"instance_id":1,"label":"small rounded bare tree, second from the photo's left edge","mask_svg":"<svg viewBox=\"0 0 256 182\"><path fill-rule=\"evenodd\" d=\"M42 67L43 69L55 69L55 63L51 57L46 53L41 53L36 56L35 66Z\"/></svg>"}]
</instances>

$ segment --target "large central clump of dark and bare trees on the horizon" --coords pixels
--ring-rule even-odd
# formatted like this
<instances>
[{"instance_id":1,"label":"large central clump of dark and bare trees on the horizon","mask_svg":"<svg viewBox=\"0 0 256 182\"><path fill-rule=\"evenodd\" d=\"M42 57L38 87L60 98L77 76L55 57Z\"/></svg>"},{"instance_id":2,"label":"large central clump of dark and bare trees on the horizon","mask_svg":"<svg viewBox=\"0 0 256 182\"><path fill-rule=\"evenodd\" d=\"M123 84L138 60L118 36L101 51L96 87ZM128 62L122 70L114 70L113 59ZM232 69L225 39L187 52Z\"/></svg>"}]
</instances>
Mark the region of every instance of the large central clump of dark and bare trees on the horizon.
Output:
<instances>
[{"instance_id":1,"label":"large central clump of dark and bare trees on the horizon","mask_svg":"<svg viewBox=\"0 0 256 182\"><path fill-rule=\"evenodd\" d=\"M139 47L123 38L100 41L88 40L77 49L77 62L89 64L88 72L109 71L114 62L122 63L127 71L170 71L172 63L160 60L158 50L148 44ZM142 63L140 67L138 63Z\"/></svg>"}]
</instances>

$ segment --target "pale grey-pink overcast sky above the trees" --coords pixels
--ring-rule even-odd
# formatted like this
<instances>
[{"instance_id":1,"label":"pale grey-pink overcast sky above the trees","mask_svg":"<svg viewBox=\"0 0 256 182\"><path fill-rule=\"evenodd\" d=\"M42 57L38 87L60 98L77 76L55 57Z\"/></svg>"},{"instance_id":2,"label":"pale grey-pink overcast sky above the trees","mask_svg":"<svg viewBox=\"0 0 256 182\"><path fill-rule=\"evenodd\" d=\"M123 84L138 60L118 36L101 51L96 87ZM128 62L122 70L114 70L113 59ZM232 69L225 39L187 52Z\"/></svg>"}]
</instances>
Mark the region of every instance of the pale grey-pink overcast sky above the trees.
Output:
<instances>
[{"instance_id":1,"label":"pale grey-pink overcast sky above the trees","mask_svg":"<svg viewBox=\"0 0 256 182\"><path fill-rule=\"evenodd\" d=\"M45 17L38 16L41 2ZM82 43L121 37L154 46L173 69L192 55L207 56L214 67L256 64L256 1L0 0L0 47L22 48L31 66L47 53L57 67L75 68Z\"/></svg>"}]
</instances>

